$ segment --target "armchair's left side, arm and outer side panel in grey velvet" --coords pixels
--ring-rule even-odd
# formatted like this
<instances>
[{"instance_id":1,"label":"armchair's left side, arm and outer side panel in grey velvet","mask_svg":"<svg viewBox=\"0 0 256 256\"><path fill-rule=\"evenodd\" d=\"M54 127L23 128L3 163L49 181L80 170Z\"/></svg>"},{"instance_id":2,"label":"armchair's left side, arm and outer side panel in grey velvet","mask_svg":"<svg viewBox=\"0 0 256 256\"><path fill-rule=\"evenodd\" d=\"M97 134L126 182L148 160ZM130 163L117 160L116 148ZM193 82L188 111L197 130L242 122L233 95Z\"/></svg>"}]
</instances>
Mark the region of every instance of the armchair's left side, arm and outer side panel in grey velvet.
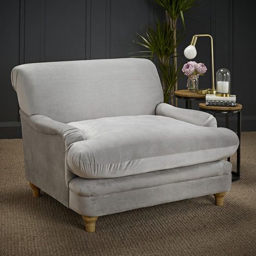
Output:
<instances>
[{"instance_id":1,"label":"armchair's left side, arm and outer side panel in grey velvet","mask_svg":"<svg viewBox=\"0 0 256 256\"><path fill-rule=\"evenodd\" d=\"M47 194L69 207L68 185L76 177L66 166L69 145L83 140L81 131L68 124L20 111L25 157L25 173Z\"/></svg>"}]
</instances>

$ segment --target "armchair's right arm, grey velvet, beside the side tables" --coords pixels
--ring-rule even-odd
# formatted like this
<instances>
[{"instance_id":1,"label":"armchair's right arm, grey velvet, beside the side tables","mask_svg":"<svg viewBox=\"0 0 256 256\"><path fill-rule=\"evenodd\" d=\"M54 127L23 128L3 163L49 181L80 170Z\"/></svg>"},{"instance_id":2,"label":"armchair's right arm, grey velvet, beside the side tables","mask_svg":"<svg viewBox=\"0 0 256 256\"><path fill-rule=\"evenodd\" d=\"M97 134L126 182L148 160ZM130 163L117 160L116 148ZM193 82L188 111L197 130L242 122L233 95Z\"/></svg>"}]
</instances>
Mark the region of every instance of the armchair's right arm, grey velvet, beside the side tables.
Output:
<instances>
[{"instance_id":1,"label":"armchair's right arm, grey velvet, beside the side tables","mask_svg":"<svg viewBox=\"0 0 256 256\"><path fill-rule=\"evenodd\" d=\"M214 116L197 111L176 108L175 106L159 103L156 106L156 115L172 117L174 119L207 127L217 127L217 120Z\"/></svg>"}]
</instances>

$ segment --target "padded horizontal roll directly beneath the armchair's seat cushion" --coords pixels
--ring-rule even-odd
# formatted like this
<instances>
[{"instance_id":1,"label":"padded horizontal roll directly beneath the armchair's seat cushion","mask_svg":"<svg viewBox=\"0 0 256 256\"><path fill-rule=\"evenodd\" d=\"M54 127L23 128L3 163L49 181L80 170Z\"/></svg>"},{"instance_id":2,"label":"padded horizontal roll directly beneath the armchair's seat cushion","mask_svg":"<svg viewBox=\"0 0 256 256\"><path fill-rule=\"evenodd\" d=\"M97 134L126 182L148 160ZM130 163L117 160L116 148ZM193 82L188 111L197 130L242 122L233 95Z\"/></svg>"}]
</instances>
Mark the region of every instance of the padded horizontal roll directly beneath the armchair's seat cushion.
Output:
<instances>
[{"instance_id":1,"label":"padded horizontal roll directly beneath the armchair's seat cushion","mask_svg":"<svg viewBox=\"0 0 256 256\"><path fill-rule=\"evenodd\" d=\"M84 179L77 177L69 183L69 188L79 196L101 197L134 189L229 175L231 170L232 164L230 162L219 160L112 179Z\"/></svg>"}]
</instances>

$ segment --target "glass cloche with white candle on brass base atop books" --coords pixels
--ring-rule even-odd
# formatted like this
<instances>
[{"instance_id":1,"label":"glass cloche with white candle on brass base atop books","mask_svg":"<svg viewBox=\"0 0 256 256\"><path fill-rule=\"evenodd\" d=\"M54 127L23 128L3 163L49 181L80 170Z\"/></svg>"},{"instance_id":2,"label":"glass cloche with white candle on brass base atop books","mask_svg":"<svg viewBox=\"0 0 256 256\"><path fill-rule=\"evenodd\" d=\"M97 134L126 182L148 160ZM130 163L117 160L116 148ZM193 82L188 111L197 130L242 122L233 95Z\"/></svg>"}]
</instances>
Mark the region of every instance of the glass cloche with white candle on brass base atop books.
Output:
<instances>
[{"instance_id":1,"label":"glass cloche with white candle on brass base atop books","mask_svg":"<svg viewBox=\"0 0 256 256\"><path fill-rule=\"evenodd\" d=\"M217 96L230 96L230 72L227 69L219 69L216 74Z\"/></svg>"}]
</instances>

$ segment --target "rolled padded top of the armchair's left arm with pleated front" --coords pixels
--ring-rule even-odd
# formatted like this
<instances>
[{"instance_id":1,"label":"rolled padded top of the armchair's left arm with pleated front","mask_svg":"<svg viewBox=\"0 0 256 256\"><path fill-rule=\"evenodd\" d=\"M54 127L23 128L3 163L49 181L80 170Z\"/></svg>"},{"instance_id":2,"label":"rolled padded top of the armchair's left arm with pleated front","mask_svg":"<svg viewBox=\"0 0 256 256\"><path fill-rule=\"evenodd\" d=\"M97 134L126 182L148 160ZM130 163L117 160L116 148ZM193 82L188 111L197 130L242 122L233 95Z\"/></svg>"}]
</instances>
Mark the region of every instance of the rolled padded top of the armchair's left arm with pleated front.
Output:
<instances>
[{"instance_id":1,"label":"rolled padded top of the armchair's left arm with pleated front","mask_svg":"<svg viewBox=\"0 0 256 256\"><path fill-rule=\"evenodd\" d=\"M22 110L20 110L20 112L22 112L23 118L28 125L38 133L60 135L65 141L66 150L71 143L84 140L81 130L72 125L54 121L44 115L28 116Z\"/></svg>"}]
</instances>

